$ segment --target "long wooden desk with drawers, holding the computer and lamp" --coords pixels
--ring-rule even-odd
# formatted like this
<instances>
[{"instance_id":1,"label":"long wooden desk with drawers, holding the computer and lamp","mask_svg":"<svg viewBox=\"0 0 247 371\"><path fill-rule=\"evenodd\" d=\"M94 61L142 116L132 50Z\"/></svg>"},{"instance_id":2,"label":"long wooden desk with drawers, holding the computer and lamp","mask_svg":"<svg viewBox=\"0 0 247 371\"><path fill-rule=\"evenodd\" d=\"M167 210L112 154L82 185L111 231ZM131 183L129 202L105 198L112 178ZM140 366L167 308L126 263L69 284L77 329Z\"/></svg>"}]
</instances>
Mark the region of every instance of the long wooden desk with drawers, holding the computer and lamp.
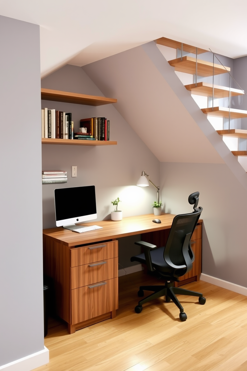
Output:
<instances>
[{"instance_id":1,"label":"long wooden desk with drawers, holding the computer and lamp","mask_svg":"<svg viewBox=\"0 0 247 371\"><path fill-rule=\"evenodd\" d=\"M81 225L97 224L103 229L85 233L72 232L62 227L43 230L44 274L53 279L56 311L68 323L70 334L77 329L116 316L116 239L140 233L147 233L145 236L148 239L150 236L153 238L150 233L158 232L157 241L161 243L164 233L168 234L174 216L160 215L160 224L152 222L153 214L127 217L121 221L93 221ZM200 219L191 238L198 240L195 259L197 271L193 272L194 279L198 279L201 273L201 224Z\"/></svg>"}]
</instances>

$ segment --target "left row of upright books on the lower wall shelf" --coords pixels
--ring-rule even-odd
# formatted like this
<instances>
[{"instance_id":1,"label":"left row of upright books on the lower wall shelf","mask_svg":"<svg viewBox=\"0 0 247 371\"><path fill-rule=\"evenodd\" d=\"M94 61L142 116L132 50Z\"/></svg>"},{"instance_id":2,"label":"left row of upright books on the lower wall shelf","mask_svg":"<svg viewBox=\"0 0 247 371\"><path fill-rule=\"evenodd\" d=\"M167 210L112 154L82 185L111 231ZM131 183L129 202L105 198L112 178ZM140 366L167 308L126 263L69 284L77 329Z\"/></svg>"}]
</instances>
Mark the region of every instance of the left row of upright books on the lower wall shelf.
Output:
<instances>
[{"instance_id":1,"label":"left row of upright books on the lower wall shelf","mask_svg":"<svg viewBox=\"0 0 247 371\"><path fill-rule=\"evenodd\" d=\"M42 138L73 139L73 127L70 112L41 109Z\"/></svg>"}]
</instances>

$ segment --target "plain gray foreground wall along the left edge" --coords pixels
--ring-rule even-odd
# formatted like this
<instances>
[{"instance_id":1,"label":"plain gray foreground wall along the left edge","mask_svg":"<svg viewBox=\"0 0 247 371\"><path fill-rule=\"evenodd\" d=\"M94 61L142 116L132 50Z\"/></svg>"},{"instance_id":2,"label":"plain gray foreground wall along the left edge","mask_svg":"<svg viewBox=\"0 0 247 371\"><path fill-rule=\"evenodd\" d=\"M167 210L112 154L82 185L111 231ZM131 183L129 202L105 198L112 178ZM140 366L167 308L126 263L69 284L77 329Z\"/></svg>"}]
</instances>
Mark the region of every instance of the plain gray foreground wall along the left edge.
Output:
<instances>
[{"instance_id":1,"label":"plain gray foreground wall along the left edge","mask_svg":"<svg viewBox=\"0 0 247 371\"><path fill-rule=\"evenodd\" d=\"M39 37L0 16L0 366L44 349Z\"/></svg>"}]
</instances>

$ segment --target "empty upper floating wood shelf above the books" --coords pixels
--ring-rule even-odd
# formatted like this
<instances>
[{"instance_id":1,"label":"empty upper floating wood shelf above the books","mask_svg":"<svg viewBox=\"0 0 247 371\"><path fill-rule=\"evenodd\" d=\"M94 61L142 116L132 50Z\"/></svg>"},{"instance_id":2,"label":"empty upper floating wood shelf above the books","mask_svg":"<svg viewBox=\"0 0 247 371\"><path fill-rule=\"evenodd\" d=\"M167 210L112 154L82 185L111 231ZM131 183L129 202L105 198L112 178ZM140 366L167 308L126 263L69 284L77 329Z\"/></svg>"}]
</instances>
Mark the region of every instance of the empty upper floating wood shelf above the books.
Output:
<instances>
[{"instance_id":1,"label":"empty upper floating wood shelf above the books","mask_svg":"<svg viewBox=\"0 0 247 371\"><path fill-rule=\"evenodd\" d=\"M117 103L117 99L104 96L69 93L59 90L41 88L41 99L46 101L84 104L88 106L101 106L104 104Z\"/></svg>"}]
</instances>

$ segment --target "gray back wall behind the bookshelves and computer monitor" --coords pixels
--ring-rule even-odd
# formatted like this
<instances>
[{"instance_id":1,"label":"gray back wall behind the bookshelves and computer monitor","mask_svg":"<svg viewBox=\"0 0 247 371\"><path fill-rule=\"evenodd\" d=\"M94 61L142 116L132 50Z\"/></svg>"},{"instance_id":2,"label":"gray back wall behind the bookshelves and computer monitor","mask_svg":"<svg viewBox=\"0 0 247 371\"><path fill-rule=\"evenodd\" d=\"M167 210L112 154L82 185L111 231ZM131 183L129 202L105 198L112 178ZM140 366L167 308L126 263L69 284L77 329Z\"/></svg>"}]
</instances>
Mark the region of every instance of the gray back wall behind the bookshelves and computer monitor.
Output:
<instances>
[{"instance_id":1,"label":"gray back wall behind the bookshelves and computer monitor","mask_svg":"<svg viewBox=\"0 0 247 371\"><path fill-rule=\"evenodd\" d=\"M77 92L90 95L103 94L80 67L64 66L41 81L48 89ZM110 98L118 98L113 96ZM71 112L76 131L81 118L103 116L110 119L110 139L117 141L115 146L87 147L68 145L43 145L43 170L67 170L65 184L44 184L43 187L43 227L56 226L54 212L54 189L95 185L97 201L97 220L110 219L114 210L111 200L119 197L119 209L123 217L152 213L151 203L156 199L156 191L151 187L136 186L141 171L150 174L154 183L159 184L160 163L154 154L141 141L138 135L114 108L114 105L98 107L41 101L42 108L55 108ZM77 165L77 177L71 177L71 166ZM117 223L117 222L116 222ZM138 240L139 237L136 237ZM130 266L130 256L138 253L132 240L124 239L121 246L130 250L119 262ZM135 263L134 263L135 264Z\"/></svg>"}]
</instances>

